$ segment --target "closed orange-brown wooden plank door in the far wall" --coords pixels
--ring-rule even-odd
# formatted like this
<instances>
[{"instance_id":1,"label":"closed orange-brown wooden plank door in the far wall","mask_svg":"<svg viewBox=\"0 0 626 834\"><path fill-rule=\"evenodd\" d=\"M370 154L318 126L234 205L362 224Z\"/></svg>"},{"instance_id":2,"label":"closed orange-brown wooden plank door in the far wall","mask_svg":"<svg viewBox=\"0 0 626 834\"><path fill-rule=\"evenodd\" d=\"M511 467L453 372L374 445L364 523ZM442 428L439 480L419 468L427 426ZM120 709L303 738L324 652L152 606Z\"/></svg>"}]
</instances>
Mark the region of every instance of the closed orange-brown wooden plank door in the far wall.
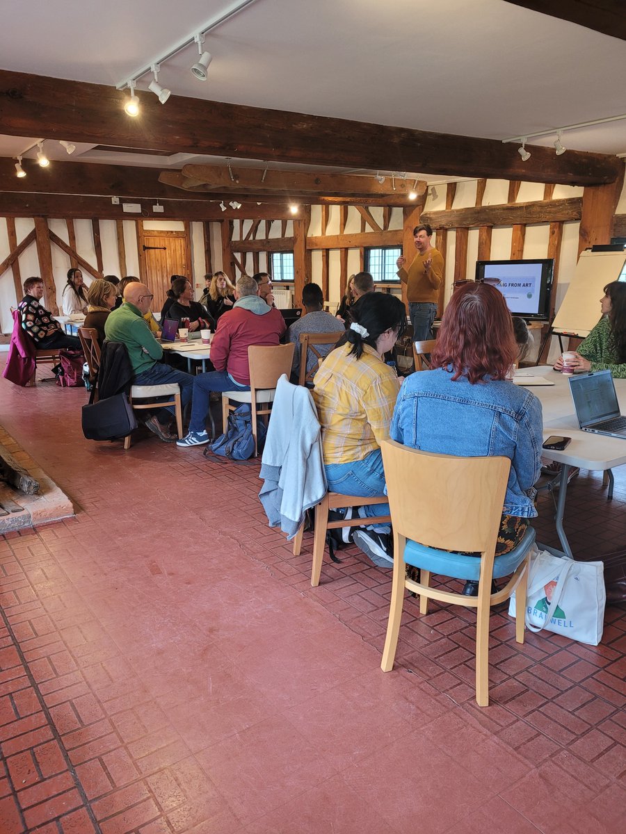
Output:
<instances>
[{"instance_id":1,"label":"closed orange-brown wooden plank door in the far wall","mask_svg":"<svg viewBox=\"0 0 626 834\"><path fill-rule=\"evenodd\" d=\"M139 277L154 294L152 309L159 313L169 289L170 275L184 275L193 284L189 224L184 232L139 229Z\"/></svg>"}]
</instances>

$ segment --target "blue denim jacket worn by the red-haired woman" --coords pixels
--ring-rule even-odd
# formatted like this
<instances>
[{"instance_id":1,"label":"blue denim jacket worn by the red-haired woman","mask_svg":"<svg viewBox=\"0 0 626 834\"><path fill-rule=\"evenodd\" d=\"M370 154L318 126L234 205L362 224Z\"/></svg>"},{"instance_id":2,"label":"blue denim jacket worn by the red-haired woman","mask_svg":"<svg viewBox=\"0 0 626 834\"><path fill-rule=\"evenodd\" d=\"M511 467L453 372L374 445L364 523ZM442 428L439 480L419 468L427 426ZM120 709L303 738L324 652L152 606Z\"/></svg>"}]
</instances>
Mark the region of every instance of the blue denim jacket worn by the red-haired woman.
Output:
<instances>
[{"instance_id":1,"label":"blue denim jacket worn by the red-haired woman","mask_svg":"<svg viewBox=\"0 0 626 834\"><path fill-rule=\"evenodd\" d=\"M406 446L442 455L502 455L511 460L504 509L537 515L527 491L539 477L543 443L541 403L512 382L470 384L437 369L407 377L400 389L390 435Z\"/></svg>"}]
</instances>

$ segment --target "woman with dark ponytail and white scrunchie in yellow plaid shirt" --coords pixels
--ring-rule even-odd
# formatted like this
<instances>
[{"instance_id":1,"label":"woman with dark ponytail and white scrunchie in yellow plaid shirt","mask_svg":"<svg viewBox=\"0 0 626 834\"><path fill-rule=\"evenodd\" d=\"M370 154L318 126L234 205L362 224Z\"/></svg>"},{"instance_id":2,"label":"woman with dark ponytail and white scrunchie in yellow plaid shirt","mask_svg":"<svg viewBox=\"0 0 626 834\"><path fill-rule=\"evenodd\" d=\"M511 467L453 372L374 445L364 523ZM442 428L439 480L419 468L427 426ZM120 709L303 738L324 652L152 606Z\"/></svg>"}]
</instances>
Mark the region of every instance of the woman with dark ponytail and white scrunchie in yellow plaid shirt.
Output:
<instances>
[{"instance_id":1,"label":"woman with dark ponytail and white scrunchie in yellow plaid shirt","mask_svg":"<svg viewBox=\"0 0 626 834\"><path fill-rule=\"evenodd\" d=\"M406 328L406 309L386 293L367 293L351 306L346 343L331 351L314 379L313 399L322 428L329 490L382 495L381 440L389 437L399 383L383 356ZM342 337L343 338L343 337ZM386 515L388 505L367 505L366 515ZM389 525L356 530L354 541L376 565L392 565Z\"/></svg>"}]
</instances>

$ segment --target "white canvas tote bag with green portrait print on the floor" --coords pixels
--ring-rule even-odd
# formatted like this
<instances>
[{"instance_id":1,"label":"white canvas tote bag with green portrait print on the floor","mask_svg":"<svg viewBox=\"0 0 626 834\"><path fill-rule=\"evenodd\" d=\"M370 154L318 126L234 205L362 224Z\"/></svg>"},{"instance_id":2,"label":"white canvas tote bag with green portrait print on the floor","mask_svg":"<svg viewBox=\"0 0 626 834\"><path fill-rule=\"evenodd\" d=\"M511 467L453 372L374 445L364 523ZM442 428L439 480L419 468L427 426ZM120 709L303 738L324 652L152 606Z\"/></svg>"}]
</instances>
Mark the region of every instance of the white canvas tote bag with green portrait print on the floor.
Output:
<instances>
[{"instance_id":1,"label":"white canvas tote bag with green portrait print on the floor","mask_svg":"<svg viewBox=\"0 0 626 834\"><path fill-rule=\"evenodd\" d=\"M598 646L604 625L603 563L577 562L535 548L530 557L526 626ZM508 613L515 616L515 594Z\"/></svg>"}]
</instances>

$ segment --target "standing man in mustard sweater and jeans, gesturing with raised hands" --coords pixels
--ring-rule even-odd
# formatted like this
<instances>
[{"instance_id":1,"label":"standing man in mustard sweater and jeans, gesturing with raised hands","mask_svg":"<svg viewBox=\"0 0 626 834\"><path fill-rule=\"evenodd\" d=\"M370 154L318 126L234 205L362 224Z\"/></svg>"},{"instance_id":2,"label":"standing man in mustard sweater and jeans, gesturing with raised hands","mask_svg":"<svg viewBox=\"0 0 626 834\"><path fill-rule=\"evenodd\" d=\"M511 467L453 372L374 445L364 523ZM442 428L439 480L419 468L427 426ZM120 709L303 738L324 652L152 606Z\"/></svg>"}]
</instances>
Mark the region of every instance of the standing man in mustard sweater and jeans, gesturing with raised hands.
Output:
<instances>
[{"instance_id":1,"label":"standing man in mustard sweater and jeans, gesturing with raised hands","mask_svg":"<svg viewBox=\"0 0 626 834\"><path fill-rule=\"evenodd\" d=\"M413 229L413 241L417 254L408 271L406 258L396 260L397 274L406 284L406 299L413 325L413 340L432 339L432 323L437 314L437 295L443 280L443 257L431 246L432 229L428 224Z\"/></svg>"}]
</instances>

